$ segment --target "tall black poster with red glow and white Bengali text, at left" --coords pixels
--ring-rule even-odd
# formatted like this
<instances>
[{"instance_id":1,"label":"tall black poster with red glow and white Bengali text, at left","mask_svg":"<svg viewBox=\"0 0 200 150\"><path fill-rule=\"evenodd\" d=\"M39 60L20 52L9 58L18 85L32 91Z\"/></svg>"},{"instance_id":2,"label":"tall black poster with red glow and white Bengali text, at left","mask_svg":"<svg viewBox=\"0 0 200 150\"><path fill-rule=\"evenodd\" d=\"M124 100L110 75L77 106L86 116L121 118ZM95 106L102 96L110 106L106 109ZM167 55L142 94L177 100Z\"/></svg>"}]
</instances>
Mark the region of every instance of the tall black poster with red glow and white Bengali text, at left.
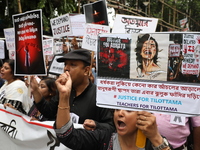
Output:
<instances>
[{"instance_id":1,"label":"tall black poster with red glow and white Bengali text, at left","mask_svg":"<svg viewBox=\"0 0 200 150\"><path fill-rule=\"evenodd\" d=\"M15 75L46 75L42 46L42 11L13 15Z\"/></svg>"}]
</instances>

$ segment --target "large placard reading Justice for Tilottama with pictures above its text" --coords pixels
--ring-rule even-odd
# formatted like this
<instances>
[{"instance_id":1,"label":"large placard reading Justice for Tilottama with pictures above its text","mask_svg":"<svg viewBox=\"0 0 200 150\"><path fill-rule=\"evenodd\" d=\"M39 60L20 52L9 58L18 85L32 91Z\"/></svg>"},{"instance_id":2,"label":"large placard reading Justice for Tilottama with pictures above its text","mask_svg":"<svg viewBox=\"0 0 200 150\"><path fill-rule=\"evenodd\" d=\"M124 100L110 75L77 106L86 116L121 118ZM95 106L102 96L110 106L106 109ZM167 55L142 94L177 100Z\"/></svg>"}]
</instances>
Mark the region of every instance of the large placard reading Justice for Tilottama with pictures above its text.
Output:
<instances>
[{"instance_id":1,"label":"large placard reading Justice for Tilottama with pictures above its text","mask_svg":"<svg viewBox=\"0 0 200 150\"><path fill-rule=\"evenodd\" d=\"M97 105L200 115L199 44L192 32L99 34Z\"/></svg>"}]
</instances>

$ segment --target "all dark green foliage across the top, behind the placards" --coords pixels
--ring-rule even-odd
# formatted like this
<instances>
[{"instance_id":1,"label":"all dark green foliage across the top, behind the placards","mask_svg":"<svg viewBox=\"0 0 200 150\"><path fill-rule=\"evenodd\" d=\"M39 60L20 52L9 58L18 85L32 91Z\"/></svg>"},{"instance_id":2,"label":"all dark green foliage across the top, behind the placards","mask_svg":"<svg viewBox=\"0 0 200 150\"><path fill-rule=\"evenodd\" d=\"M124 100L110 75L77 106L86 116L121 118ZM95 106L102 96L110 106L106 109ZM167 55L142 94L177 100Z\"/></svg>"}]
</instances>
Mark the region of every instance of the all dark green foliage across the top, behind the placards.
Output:
<instances>
[{"instance_id":1,"label":"all dark green foliage across the top, behind the placards","mask_svg":"<svg viewBox=\"0 0 200 150\"><path fill-rule=\"evenodd\" d=\"M50 19L55 18L58 15L63 15L66 13L77 13L77 2L80 1L81 6L88 3L88 0L21 0L22 12L42 9L43 16L43 29L45 34L51 34ZM140 9L145 12L145 6L143 2L150 1L150 17L163 19L165 22L173 22L173 9L177 9L179 13L176 14L176 25L179 25L179 20L185 18L187 15L191 16L190 29L192 31L200 30L200 1L199 0L163 0L165 5L163 8L162 16L162 2L161 0L120 0L121 3L125 3L131 8ZM5 15L6 6L8 8L8 15ZM0 36L2 37L3 28L13 27L12 15L18 14L18 0L1 0L0 1ZM82 7L80 10L83 12ZM116 10L118 11L118 10ZM121 11L124 14L129 14L129 12ZM56 16L57 14L57 16ZM143 15L143 13L141 13Z\"/></svg>"}]
</instances>

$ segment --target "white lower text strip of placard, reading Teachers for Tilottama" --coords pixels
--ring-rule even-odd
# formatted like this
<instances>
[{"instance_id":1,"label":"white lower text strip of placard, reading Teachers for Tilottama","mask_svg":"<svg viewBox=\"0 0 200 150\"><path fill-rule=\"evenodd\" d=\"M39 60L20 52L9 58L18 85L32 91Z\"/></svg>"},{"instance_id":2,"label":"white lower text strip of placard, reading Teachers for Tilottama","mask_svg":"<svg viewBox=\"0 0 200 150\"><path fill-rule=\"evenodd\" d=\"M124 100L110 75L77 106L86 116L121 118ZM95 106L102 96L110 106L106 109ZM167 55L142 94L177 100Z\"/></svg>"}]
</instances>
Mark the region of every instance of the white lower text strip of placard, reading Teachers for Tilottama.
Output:
<instances>
[{"instance_id":1,"label":"white lower text strip of placard, reading Teachers for Tilottama","mask_svg":"<svg viewBox=\"0 0 200 150\"><path fill-rule=\"evenodd\" d=\"M101 107L200 115L199 86L111 79L97 79L97 85L97 105Z\"/></svg>"}]
</instances>

